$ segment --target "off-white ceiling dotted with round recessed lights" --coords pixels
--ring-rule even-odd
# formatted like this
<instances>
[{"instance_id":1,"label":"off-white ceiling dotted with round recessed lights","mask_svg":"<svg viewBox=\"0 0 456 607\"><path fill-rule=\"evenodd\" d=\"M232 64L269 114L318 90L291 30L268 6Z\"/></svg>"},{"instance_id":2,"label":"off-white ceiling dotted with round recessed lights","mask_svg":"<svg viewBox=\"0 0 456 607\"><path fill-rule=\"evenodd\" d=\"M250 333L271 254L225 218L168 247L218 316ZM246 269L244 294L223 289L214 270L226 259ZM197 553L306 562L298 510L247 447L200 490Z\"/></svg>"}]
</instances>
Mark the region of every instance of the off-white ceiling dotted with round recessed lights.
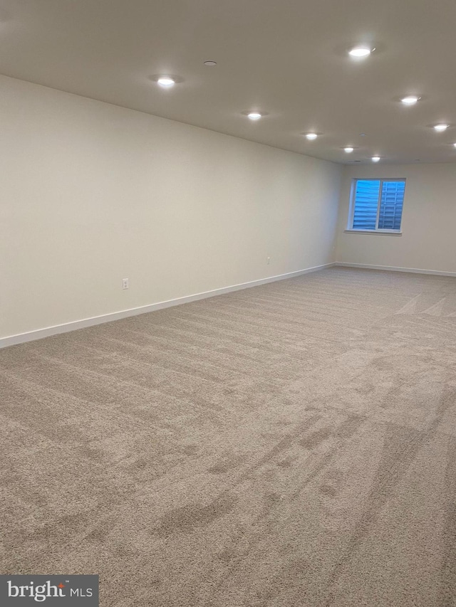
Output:
<instances>
[{"instance_id":1,"label":"off-white ceiling dotted with round recessed lights","mask_svg":"<svg viewBox=\"0 0 456 607\"><path fill-rule=\"evenodd\" d=\"M456 0L0 0L0 73L333 162L456 162L455 36Z\"/></svg>"}]
</instances>

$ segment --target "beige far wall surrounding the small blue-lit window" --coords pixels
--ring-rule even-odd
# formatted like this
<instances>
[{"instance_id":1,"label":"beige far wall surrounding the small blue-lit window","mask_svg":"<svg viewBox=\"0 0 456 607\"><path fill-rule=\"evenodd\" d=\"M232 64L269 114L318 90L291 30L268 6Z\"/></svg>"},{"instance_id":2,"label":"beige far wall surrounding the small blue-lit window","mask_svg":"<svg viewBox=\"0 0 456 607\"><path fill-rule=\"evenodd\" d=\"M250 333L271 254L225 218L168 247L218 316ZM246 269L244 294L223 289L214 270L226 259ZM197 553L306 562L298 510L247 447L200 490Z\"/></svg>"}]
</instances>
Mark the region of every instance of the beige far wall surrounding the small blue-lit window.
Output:
<instances>
[{"instance_id":1,"label":"beige far wall surrounding the small blue-lit window","mask_svg":"<svg viewBox=\"0 0 456 607\"><path fill-rule=\"evenodd\" d=\"M402 236L344 232L355 177L407 179ZM339 209L339 262L456 272L456 164L346 167Z\"/></svg>"}]
</instances>

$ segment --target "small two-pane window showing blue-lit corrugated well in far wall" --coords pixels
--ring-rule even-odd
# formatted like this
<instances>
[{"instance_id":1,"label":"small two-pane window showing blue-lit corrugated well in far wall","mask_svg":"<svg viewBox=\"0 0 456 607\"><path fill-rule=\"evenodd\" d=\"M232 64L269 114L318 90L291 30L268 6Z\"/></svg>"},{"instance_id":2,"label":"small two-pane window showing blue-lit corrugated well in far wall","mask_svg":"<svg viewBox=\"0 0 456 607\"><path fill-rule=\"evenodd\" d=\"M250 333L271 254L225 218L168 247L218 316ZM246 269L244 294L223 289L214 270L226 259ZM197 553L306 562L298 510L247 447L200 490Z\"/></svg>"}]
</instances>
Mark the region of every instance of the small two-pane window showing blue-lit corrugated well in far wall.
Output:
<instances>
[{"instance_id":1,"label":"small two-pane window showing blue-lit corrugated well in far wall","mask_svg":"<svg viewBox=\"0 0 456 607\"><path fill-rule=\"evenodd\" d=\"M353 179L348 230L400 232L405 179Z\"/></svg>"}]
</instances>

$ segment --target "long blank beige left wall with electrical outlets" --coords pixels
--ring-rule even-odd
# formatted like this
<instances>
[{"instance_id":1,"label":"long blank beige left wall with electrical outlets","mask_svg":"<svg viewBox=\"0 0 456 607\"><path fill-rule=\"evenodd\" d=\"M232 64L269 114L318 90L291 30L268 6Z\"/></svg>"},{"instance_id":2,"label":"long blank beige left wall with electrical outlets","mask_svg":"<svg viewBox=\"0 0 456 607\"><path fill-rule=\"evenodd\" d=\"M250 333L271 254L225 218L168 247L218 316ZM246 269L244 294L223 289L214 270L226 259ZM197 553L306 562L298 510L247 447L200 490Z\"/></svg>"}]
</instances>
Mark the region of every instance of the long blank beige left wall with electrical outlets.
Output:
<instances>
[{"instance_id":1,"label":"long blank beige left wall with electrical outlets","mask_svg":"<svg viewBox=\"0 0 456 607\"><path fill-rule=\"evenodd\" d=\"M335 164L0 85L0 337L333 260Z\"/></svg>"}]
</instances>

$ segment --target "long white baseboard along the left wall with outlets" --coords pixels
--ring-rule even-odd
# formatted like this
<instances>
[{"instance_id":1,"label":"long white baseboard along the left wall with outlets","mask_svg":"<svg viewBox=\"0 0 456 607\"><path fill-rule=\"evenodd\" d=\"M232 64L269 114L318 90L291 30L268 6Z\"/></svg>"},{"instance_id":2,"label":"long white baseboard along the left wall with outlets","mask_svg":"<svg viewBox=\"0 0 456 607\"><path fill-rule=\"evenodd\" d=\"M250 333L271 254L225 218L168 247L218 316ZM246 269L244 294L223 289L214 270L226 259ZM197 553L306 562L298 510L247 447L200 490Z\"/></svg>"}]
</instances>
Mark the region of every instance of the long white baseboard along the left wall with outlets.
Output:
<instances>
[{"instance_id":1,"label":"long white baseboard along the left wall with outlets","mask_svg":"<svg viewBox=\"0 0 456 607\"><path fill-rule=\"evenodd\" d=\"M232 285L230 287L222 287L221 289L214 289L212 291L196 293L195 295L187 295L186 297L177 297L177 299L174 300L167 300L165 302L158 302L155 304L145 305L141 307L134 307L130 310L121 310L120 312L112 312L110 314L94 316L92 318L84 318L83 320L74 320L73 322L66 322L65 324L56 324L53 327L45 327L44 329L37 329L36 331L11 335L10 337L1 337L0 348L16 346L17 344L32 342L35 339L43 339L43 337L50 337L51 335L56 335L58 333L68 333L70 331L76 331L76 329L93 327L94 324L102 324L103 322L113 322L114 320L120 320L121 318L137 316L140 314L145 314L146 312L153 312L154 310L162 310L162 308L165 307L172 307L175 305L195 302L197 300L206 299L207 297L215 297L216 295L223 295L224 293L230 293L232 291L239 291L241 289L247 289L249 287L266 285L266 283L274 283L274 281L276 280L285 280L286 278L294 278L295 276L309 274L310 272L316 272L318 270L323 270L324 268L331 268L331 266L333 265L334 263L324 263L323 265L316 265L314 266L314 268L306 268L305 270L297 270L296 272L289 272L287 274L280 274L278 276L270 276L269 278L261 278L260 280L252 280L252 282L249 283Z\"/></svg>"}]
</instances>

